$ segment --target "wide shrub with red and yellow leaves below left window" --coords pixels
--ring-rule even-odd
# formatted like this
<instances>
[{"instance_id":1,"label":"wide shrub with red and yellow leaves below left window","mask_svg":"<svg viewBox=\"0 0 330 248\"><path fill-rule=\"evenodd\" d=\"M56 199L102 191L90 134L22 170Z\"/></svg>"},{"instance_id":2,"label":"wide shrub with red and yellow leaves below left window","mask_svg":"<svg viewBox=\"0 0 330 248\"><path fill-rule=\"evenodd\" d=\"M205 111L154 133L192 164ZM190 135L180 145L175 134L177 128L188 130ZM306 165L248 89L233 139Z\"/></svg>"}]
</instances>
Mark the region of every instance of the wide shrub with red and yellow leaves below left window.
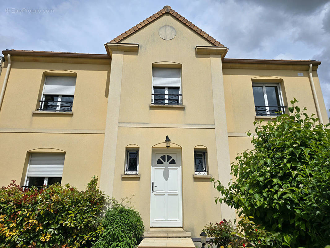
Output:
<instances>
[{"instance_id":1,"label":"wide shrub with red and yellow leaves below left window","mask_svg":"<svg viewBox=\"0 0 330 248\"><path fill-rule=\"evenodd\" d=\"M101 232L105 196L94 176L86 191L70 185L0 189L0 247L90 247Z\"/></svg>"}]
</instances>

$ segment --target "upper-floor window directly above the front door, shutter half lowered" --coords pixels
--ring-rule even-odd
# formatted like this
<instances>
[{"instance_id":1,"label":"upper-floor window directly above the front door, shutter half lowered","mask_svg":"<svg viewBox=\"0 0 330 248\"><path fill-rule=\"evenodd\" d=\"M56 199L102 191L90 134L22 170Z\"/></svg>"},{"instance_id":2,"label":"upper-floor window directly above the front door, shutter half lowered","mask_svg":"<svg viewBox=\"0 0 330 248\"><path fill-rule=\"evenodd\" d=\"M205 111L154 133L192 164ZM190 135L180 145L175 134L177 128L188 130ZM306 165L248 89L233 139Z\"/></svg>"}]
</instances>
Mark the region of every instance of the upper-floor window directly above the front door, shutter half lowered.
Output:
<instances>
[{"instance_id":1,"label":"upper-floor window directly above the front door, shutter half lowered","mask_svg":"<svg viewBox=\"0 0 330 248\"><path fill-rule=\"evenodd\" d=\"M182 105L181 69L152 69L152 104Z\"/></svg>"}]
</instances>

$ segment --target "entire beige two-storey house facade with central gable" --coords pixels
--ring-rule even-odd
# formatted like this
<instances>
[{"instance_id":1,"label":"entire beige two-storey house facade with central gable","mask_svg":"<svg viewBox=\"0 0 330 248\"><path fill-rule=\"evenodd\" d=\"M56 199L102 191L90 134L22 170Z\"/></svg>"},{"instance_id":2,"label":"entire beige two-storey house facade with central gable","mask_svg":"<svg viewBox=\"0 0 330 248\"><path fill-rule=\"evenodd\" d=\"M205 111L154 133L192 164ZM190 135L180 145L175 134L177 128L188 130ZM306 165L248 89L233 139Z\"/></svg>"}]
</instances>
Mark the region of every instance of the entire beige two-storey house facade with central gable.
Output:
<instances>
[{"instance_id":1,"label":"entire beige two-storey house facade with central gable","mask_svg":"<svg viewBox=\"0 0 330 248\"><path fill-rule=\"evenodd\" d=\"M134 195L147 230L197 237L235 218L215 205L210 178L229 182L230 162L252 148L253 121L287 112L296 98L328 122L321 62L225 58L227 47L169 6L105 50L2 51L1 186L83 190L96 175L106 194Z\"/></svg>"}]
</instances>

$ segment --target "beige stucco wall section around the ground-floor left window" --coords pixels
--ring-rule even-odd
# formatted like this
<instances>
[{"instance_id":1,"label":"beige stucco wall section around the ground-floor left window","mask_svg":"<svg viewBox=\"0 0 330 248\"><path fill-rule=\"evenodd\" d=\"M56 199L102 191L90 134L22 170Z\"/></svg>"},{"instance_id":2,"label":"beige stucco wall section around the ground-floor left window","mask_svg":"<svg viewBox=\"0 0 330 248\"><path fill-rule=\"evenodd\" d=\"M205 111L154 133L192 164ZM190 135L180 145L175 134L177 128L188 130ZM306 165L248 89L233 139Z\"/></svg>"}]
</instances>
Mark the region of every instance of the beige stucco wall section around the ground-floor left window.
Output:
<instances>
[{"instance_id":1,"label":"beige stucco wall section around the ground-floor left window","mask_svg":"<svg viewBox=\"0 0 330 248\"><path fill-rule=\"evenodd\" d=\"M52 148L65 151L62 185L85 190L92 176L100 177L103 140L103 134L0 133L0 186L22 185L28 151Z\"/></svg>"}]
</instances>

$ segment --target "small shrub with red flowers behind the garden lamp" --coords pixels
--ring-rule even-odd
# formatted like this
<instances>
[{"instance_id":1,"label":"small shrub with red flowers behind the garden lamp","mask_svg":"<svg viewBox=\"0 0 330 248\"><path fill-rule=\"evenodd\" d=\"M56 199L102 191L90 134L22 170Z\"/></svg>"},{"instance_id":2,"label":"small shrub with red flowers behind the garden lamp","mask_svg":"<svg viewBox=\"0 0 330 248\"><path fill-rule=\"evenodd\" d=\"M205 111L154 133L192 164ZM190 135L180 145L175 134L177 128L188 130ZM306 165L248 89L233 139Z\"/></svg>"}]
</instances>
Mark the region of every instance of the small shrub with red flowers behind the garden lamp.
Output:
<instances>
[{"instance_id":1,"label":"small shrub with red flowers behind the garden lamp","mask_svg":"<svg viewBox=\"0 0 330 248\"><path fill-rule=\"evenodd\" d=\"M212 243L216 247L227 246L233 240L233 235L231 234L233 231L232 224L225 219L215 224L210 222L209 225L204 227L203 231L209 237L214 237Z\"/></svg>"}]
</instances>

